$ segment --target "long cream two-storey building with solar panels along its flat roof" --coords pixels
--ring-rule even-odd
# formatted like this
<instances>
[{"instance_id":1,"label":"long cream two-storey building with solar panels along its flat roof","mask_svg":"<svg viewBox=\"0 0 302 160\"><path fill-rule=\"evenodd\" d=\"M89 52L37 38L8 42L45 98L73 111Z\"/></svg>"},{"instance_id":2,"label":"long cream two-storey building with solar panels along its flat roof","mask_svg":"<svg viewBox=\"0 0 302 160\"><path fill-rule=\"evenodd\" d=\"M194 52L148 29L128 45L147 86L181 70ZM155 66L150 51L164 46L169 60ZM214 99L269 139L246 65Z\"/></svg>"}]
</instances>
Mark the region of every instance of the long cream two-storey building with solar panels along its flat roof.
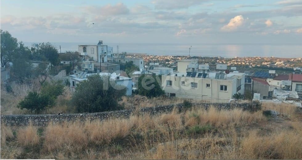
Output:
<instances>
[{"instance_id":1,"label":"long cream two-storey building with solar panels along its flat roof","mask_svg":"<svg viewBox=\"0 0 302 160\"><path fill-rule=\"evenodd\" d=\"M168 96L209 102L228 102L234 94L244 94L244 73L209 72L203 75L200 72L175 72L162 75L161 83Z\"/></svg>"}]
</instances>

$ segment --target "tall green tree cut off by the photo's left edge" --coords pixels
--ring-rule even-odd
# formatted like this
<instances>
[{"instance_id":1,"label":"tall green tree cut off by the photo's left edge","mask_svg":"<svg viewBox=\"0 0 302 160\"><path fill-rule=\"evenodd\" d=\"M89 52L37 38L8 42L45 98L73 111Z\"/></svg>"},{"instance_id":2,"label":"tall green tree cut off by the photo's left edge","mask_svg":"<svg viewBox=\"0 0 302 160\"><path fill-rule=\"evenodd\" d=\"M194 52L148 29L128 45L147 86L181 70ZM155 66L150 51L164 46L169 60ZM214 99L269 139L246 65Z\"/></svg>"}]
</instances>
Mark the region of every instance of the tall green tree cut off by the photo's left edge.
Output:
<instances>
[{"instance_id":1,"label":"tall green tree cut off by the photo's left edge","mask_svg":"<svg viewBox=\"0 0 302 160\"><path fill-rule=\"evenodd\" d=\"M8 31L1 30L1 67L4 67L6 62L12 62L17 48L17 38L12 37Z\"/></svg>"}]
</instances>

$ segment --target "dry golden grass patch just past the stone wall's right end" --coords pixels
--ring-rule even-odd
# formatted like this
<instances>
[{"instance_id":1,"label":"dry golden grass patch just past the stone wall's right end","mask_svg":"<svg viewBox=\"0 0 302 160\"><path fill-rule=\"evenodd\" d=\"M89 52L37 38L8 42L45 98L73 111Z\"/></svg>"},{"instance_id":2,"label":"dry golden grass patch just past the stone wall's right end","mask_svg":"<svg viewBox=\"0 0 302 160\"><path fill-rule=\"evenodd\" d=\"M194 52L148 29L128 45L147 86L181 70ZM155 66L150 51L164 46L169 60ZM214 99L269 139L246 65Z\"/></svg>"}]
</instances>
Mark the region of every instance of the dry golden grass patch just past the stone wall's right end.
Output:
<instances>
[{"instance_id":1,"label":"dry golden grass patch just past the stone wall's right end","mask_svg":"<svg viewBox=\"0 0 302 160\"><path fill-rule=\"evenodd\" d=\"M294 115L297 106L287 103L262 103L262 110L275 110L281 114Z\"/></svg>"}]
</instances>

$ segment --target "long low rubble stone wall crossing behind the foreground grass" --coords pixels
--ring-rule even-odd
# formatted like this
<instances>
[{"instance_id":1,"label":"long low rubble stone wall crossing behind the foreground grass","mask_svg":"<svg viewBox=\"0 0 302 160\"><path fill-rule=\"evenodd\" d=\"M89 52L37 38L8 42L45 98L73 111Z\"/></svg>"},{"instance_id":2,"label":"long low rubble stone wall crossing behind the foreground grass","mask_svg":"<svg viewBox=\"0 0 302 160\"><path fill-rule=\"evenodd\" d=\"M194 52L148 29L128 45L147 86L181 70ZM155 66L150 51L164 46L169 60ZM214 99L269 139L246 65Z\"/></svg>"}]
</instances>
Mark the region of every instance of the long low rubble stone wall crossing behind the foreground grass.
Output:
<instances>
[{"instance_id":1,"label":"long low rubble stone wall crossing behind the foreground grass","mask_svg":"<svg viewBox=\"0 0 302 160\"><path fill-rule=\"evenodd\" d=\"M247 111L257 111L261 109L260 103L193 103L192 106L208 108L214 106L217 109L234 109L242 108ZM136 114L162 114L169 113L176 108L178 110L186 110L188 106L185 106L183 103L173 104L167 106L155 106L141 108L140 110L135 111ZM1 116L1 123L10 126L24 126L32 122L37 126L46 126L49 122L64 122L64 121L85 121L85 120L103 120L108 118L129 118L130 114L134 110L116 110L110 112L98 112L98 113L85 113L85 114L39 114L39 115L3 115Z\"/></svg>"}]
</instances>

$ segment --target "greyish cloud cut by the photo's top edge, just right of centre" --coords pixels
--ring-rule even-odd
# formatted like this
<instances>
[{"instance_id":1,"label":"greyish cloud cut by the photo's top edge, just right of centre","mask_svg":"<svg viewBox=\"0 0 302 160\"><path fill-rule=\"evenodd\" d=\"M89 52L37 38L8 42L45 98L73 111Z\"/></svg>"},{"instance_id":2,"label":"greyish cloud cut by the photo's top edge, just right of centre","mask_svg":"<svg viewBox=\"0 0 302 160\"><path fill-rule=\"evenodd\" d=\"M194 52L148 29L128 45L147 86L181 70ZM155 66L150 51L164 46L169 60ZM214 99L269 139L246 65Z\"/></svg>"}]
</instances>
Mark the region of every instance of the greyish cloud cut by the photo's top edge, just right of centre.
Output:
<instances>
[{"instance_id":1,"label":"greyish cloud cut by the photo's top edge, just right of centre","mask_svg":"<svg viewBox=\"0 0 302 160\"><path fill-rule=\"evenodd\" d=\"M206 0L153 0L156 9L174 10L199 5Z\"/></svg>"}]
</instances>

